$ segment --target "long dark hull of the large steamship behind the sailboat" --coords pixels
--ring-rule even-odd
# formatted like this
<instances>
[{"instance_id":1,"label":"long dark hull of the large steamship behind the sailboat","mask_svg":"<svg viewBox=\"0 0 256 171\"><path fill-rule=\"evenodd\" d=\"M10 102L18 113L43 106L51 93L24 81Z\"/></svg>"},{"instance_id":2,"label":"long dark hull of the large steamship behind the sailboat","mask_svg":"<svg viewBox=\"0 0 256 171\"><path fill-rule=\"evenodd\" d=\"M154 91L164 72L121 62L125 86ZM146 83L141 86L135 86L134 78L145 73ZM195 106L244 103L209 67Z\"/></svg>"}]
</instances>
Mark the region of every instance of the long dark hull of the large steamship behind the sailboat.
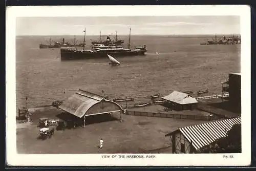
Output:
<instances>
[{"instance_id":1,"label":"long dark hull of the large steamship behind the sailboat","mask_svg":"<svg viewBox=\"0 0 256 171\"><path fill-rule=\"evenodd\" d=\"M61 60L76 60L76 59L88 59L88 58L100 58L108 57L111 55L113 57L118 56L136 56L144 55L144 51L122 51L122 52L72 52L60 50Z\"/></svg>"}]
</instances>

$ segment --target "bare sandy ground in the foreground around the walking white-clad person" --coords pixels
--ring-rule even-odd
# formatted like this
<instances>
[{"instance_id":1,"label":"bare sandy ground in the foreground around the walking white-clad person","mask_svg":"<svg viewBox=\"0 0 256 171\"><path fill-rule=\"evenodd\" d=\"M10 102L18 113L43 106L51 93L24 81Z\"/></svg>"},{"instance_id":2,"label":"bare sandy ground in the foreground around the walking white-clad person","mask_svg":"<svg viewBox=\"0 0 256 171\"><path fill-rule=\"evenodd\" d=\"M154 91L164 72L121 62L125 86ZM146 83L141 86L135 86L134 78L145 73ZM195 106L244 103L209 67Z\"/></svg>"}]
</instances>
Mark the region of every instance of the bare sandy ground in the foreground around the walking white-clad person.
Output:
<instances>
[{"instance_id":1,"label":"bare sandy ground in the foreground around the walking white-clad person","mask_svg":"<svg viewBox=\"0 0 256 171\"><path fill-rule=\"evenodd\" d=\"M55 131L51 139L38 139L38 118L57 118L60 110L52 107L34 110L33 123L17 124L17 152L20 154L97 154L97 153L172 153L169 137L164 135L178 127L206 121L154 118L114 114L88 118L86 127ZM108 121L104 121L108 120ZM99 139L104 140L99 149Z\"/></svg>"}]
</instances>

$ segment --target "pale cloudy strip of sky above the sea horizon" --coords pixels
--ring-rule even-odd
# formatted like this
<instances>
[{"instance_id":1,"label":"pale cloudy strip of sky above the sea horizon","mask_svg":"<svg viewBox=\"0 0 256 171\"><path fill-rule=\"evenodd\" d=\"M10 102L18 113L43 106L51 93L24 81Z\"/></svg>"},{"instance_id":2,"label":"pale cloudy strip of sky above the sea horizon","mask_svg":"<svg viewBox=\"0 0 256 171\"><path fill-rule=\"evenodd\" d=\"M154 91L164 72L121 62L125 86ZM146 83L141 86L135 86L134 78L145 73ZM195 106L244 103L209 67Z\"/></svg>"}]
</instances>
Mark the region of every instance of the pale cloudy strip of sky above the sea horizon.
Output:
<instances>
[{"instance_id":1,"label":"pale cloudy strip of sky above the sea horizon","mask_svg":"<svg viewBox=\"0 0 256 171\"><path fill-rule=\"evenodd\" d=\"M240 34L239 16L17 17L16 35Z\"/></svg>"}]
</instances>

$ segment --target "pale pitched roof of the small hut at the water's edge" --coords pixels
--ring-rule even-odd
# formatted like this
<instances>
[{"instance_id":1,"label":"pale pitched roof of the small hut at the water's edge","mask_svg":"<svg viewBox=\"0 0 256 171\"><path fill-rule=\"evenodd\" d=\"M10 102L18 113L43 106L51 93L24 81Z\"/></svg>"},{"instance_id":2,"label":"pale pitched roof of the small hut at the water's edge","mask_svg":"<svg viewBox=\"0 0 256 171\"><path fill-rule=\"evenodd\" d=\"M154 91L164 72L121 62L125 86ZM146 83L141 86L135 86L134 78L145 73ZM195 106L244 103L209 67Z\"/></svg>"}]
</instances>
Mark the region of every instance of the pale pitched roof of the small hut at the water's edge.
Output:
<instances>
[{"instance_id":1,"label":"pale pitched roof of the small hut at the water's edge","mask_svg":"<svg viewBox=\"0 0 256 171\"><path fill-rule=\"evenodd\" d=\"M191 103L197 103L197 99L194 97L191 97L190 95L182 92L173 91L173 93L162 97L162 99L173 101L179 104L191 104Z\"/></svg>"}]
</instances>

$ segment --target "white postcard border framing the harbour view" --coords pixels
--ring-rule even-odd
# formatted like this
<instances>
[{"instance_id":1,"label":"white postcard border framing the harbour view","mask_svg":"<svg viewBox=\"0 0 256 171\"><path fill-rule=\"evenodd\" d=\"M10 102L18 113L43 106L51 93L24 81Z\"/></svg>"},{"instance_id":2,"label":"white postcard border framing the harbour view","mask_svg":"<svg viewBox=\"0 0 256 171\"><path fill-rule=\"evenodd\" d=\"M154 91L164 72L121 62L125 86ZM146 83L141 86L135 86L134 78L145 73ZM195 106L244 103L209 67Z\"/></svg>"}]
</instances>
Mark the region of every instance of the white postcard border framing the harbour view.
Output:
<instances>
[{"instance_id":1,"label":"white postcard border framing the harbour view","mask_svg":"<svg viewBox=\"0 0 256 171\"><path fill-rule=\"evenodd\" d=\"M69 11L69 12L67 12ZM96 15L95 15L95 11ZM106 12L108 11L108 12ZM131 12L132 11L132 12ZM21 155L16 153L15 35L16 17L35 16L240 16L241 24L241 154L154 154L154 159L104 159L101 154ZM7 7L6 12L6 138L7 163L21 166L236 166L251 162L251 81L250 81L250 7L229 6L23 6ZM125 155L125 154L120 154ZM139 155L139 154L136 154ZM145 154L141 154L145 155ZM233 158L223 158L223 155Z\"/></svg>"}]
</instances>

